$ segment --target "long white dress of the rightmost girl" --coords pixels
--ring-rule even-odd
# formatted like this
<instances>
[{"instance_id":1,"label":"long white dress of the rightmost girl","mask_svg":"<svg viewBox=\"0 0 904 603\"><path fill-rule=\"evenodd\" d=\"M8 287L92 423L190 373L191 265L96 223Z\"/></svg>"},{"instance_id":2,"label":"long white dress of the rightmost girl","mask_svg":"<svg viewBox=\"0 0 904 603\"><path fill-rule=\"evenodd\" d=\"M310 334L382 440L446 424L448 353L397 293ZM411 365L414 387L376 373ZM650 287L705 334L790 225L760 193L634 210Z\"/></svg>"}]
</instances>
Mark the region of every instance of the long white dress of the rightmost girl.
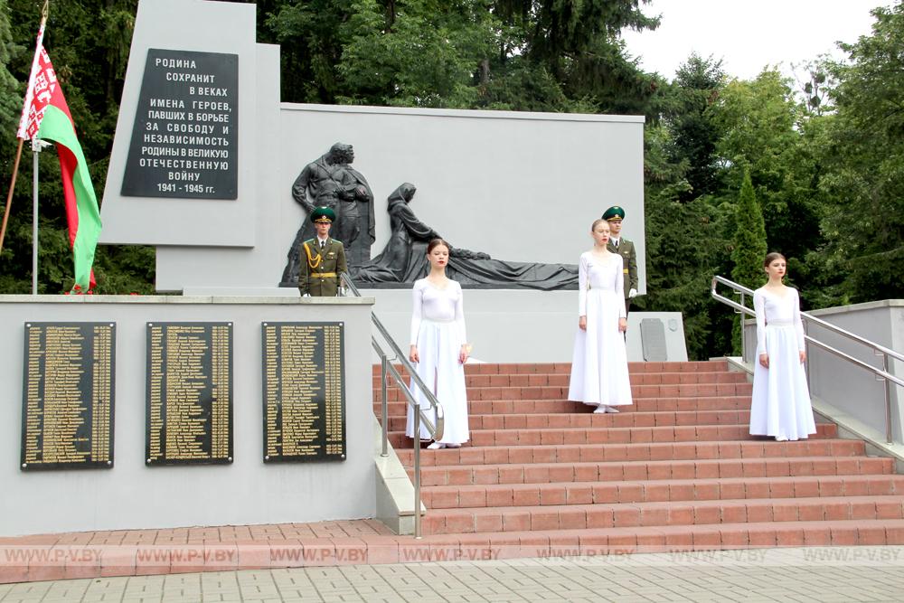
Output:
<instances>
[{"instance_id":1,"label":"long white dress of the rightmost girl","mask_svg":"<svg viewBox=\"0 0 904 603\"><path fill-rule=\"evenodd\" d=\"M760 287L753 292L753 307L757 312L757 356L750 434L805 439L816 433L816 425L800 362L805 346L797 289L787 287L784 295L777 295ZM769 354L769 368L759 363L762 353Z\"/></svg>"}]
</instances>

